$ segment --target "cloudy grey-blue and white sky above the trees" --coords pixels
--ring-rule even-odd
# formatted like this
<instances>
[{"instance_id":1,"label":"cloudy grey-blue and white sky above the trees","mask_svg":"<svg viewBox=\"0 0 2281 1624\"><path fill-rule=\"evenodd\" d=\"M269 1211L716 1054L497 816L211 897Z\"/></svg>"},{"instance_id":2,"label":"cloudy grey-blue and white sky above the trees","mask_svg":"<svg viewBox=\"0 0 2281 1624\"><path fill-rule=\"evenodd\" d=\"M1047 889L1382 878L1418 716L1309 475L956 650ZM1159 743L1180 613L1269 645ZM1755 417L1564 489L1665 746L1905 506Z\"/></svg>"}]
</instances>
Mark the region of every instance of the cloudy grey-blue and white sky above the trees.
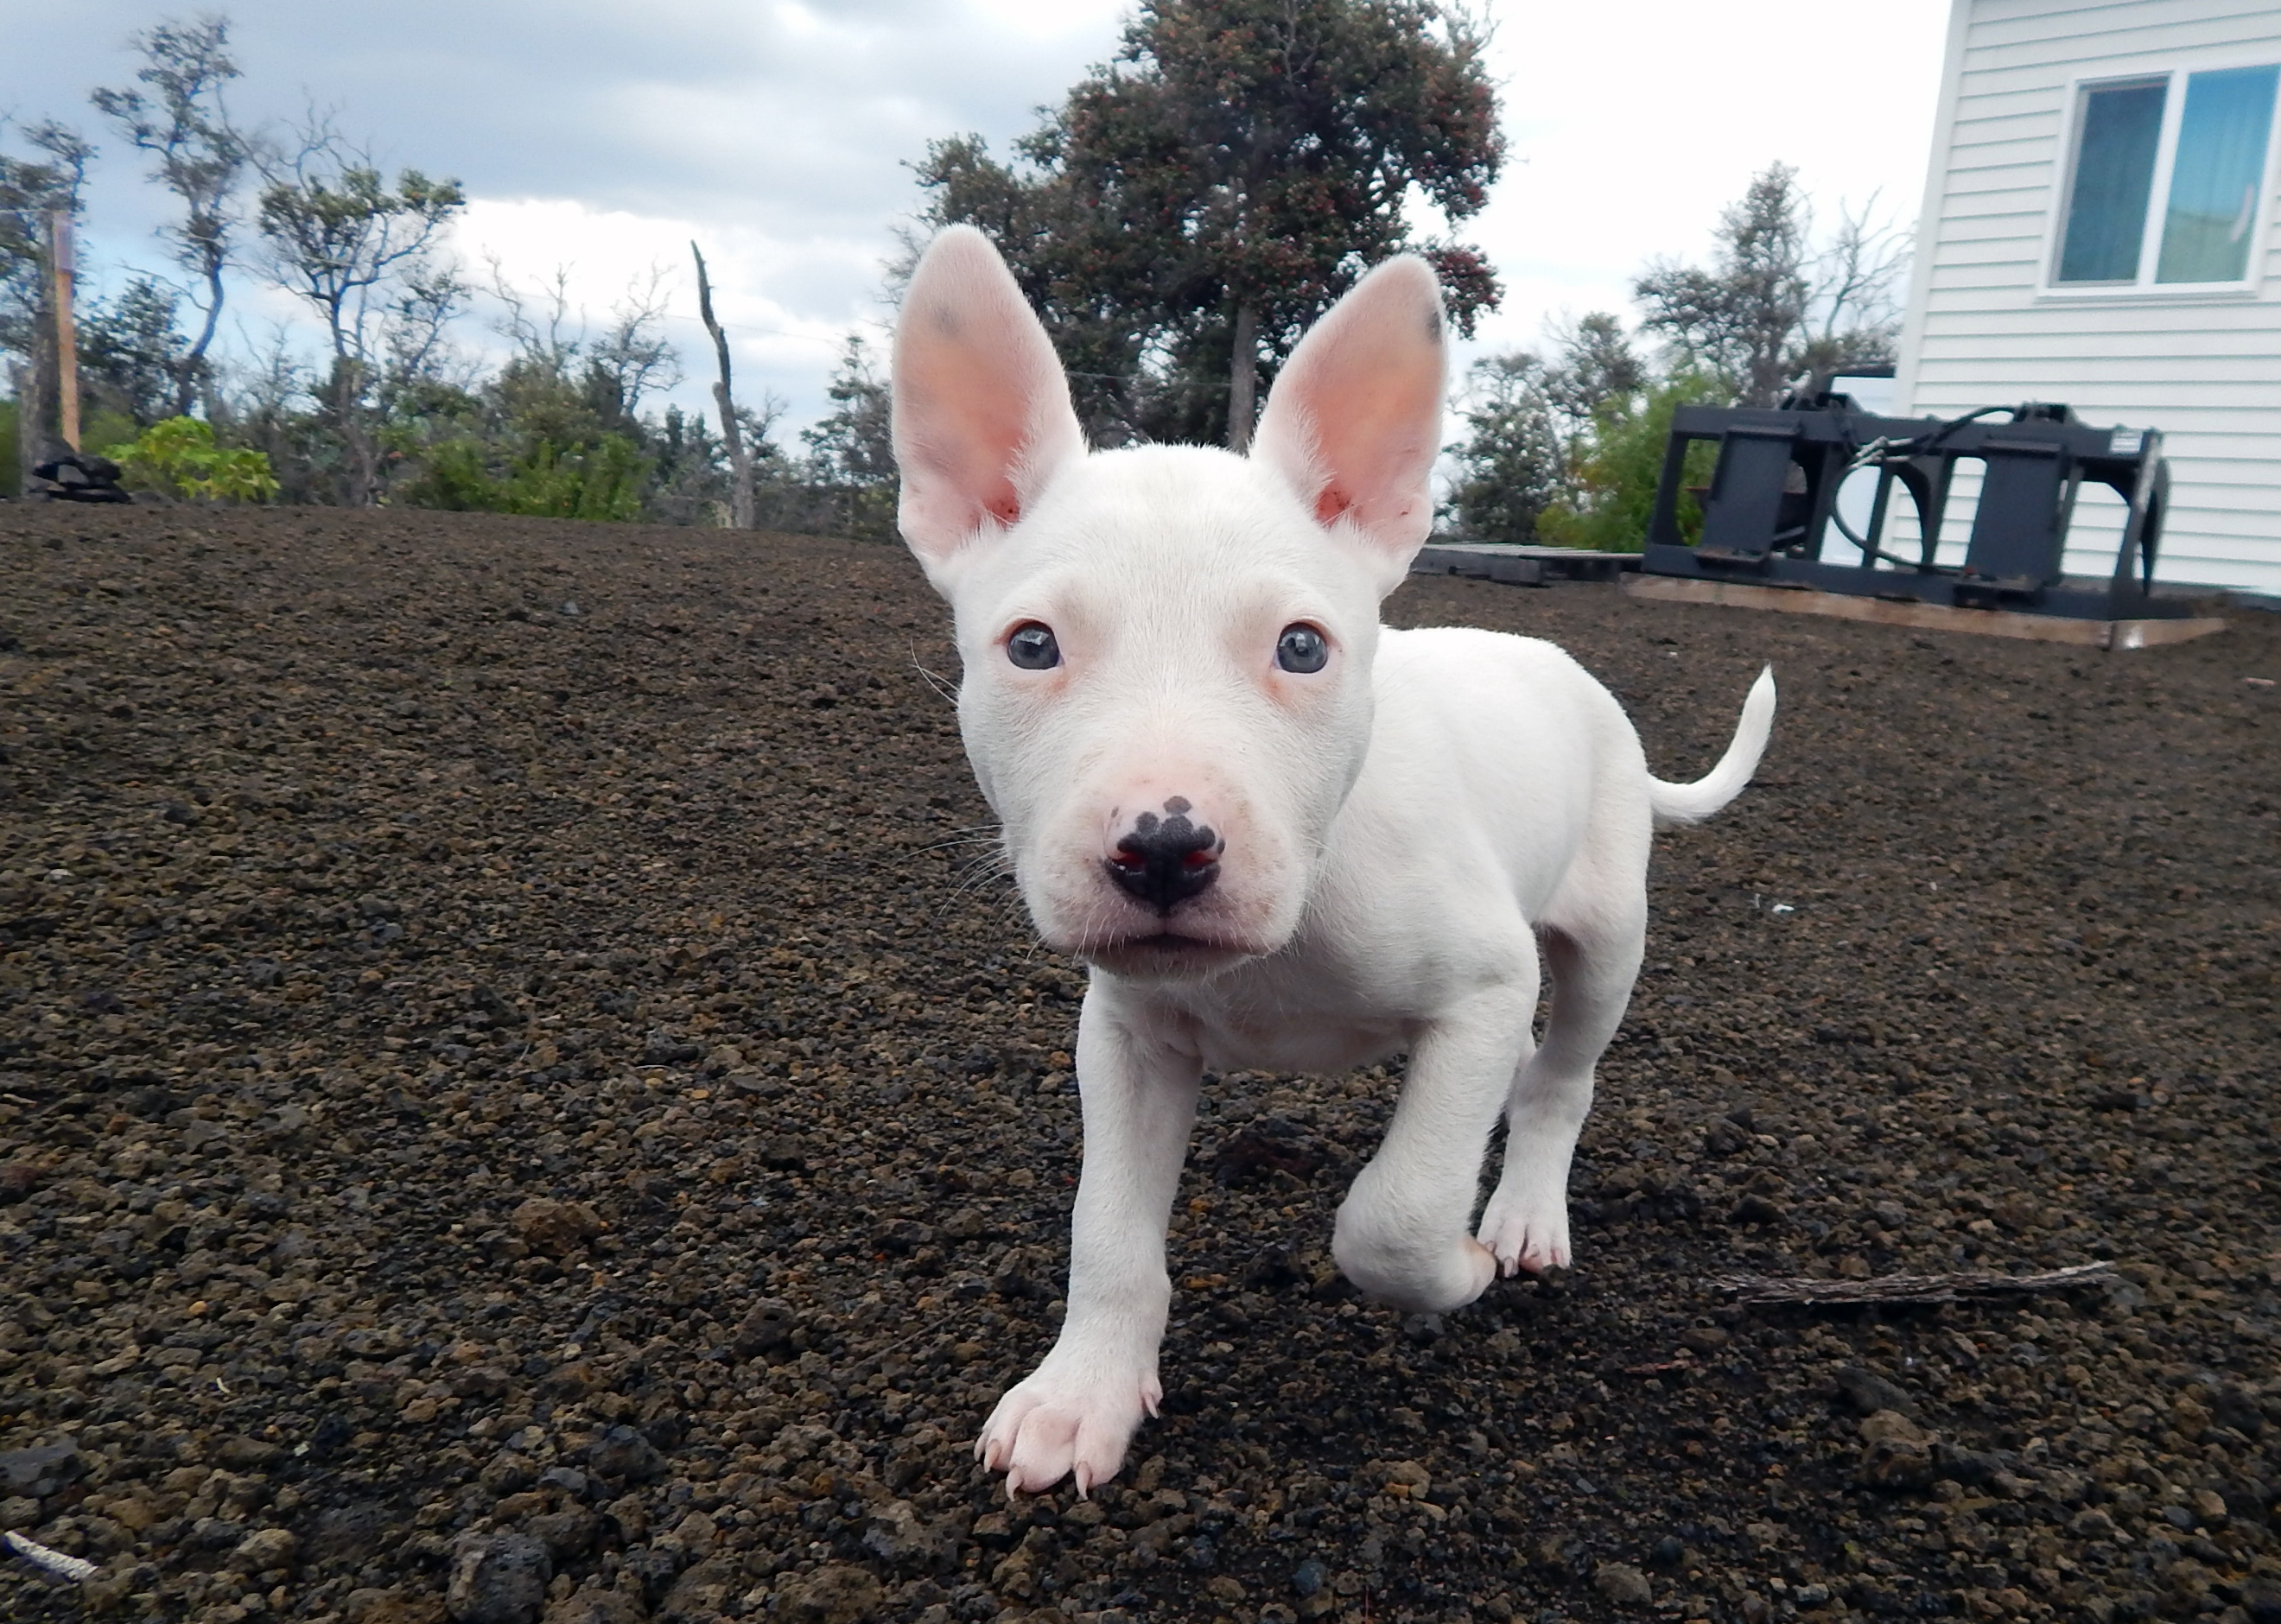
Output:
<instances>
[{"instance_id":1,"label":"cloudy grey-blue and white sky above the trees","mask_svg":"<svg viewBox=\"0 0 2281 1624\"><path fill-rule=\"evenodd\" d=\"M82 125L103 153L82 244L96 287L164 269L164 198L87 107L132 78L128 36L198 5L0 0L0 114ZM390 167L458 176L454 249L536 287L568 269L600 322L652 267L671 338L707 365L689 239L714 269L739 392L773 390L787 429L826 408L846 333L880 333L880 260L926 141L1004 151L1042 103L1113 55L1129 0L237 0L244 123L319 105ZM1943 0L1880 7L1487 0L1508 162L1462 235L1505 281L1489 347L1549 317L1626 310L1654 255L1699 255L1724 203L1772 160L1827 217L1877 196L1914 224L1939 89ZM235 297L240 354L292 301ZM495 344L463 324L470 349ZM703 376L677 390L703 406Z\"/></svg>"}]
</instances>

